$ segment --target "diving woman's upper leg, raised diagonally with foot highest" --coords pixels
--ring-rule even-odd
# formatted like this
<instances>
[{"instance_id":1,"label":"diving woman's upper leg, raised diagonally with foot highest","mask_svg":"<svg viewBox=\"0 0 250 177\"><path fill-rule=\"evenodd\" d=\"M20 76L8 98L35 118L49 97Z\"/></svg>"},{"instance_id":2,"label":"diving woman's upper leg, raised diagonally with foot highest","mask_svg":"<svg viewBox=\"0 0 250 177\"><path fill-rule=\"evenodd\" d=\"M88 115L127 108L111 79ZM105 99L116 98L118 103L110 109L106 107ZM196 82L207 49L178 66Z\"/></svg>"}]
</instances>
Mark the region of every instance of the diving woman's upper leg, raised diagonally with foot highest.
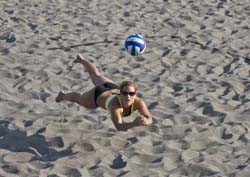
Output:
<instances>
[{"instance_id":1,"label":"diving woman's upper leg, raised diagonally with foot highest","mask_svg":"<svg viewBox=\"0 0 250 177\"><path fill-rule=\"evenodd\" d=\"M96 65L86 61L80 54L77 55L76 60L74 60L74 63L80 63L84 66L95 86L103 85L103 83L105 82L114 83L109 78L101 75Z\"/></svg>"}]
</instances>

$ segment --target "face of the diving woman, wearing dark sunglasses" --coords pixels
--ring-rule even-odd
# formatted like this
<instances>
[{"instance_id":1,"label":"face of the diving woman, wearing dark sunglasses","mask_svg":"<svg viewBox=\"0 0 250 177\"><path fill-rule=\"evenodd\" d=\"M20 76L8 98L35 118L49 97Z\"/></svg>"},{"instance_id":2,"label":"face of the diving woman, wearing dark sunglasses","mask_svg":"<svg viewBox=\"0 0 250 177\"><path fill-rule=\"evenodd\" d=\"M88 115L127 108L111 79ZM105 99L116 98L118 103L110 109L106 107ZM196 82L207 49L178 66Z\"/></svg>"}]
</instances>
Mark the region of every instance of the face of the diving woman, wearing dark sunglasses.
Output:
<instances>
[{"instance_id":1,"label":"face of the diving woman, wearing dark sunglasses","mask_svg":"<svg viewBox=\"0 0 250 177\"><path fill-rule=\"evenodd\" d=\"M136 90L133 86L125 86L121 89L122 104L129 107L134 103Z\"/></svg>"}]
</instances>

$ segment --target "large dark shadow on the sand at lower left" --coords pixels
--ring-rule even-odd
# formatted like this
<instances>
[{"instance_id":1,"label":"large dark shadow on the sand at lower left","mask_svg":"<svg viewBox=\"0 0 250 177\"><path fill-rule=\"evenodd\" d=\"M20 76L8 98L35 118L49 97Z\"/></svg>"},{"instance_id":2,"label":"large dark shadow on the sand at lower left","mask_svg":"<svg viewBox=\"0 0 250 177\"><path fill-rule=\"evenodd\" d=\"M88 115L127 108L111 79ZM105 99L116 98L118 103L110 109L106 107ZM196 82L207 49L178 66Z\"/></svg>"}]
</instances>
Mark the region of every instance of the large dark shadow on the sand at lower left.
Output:
<instances>
[{"instance_id":1,"label":"large dark shadow on the sand at lower left","mask_svg":"<svg viewBox=\"0 0 250 177\"><path fill-rule=\"evenodd\" d=\"M50 148L50 144L56 144L57 147L62 148L64 143L60 138L53 139L57 142L46 142L45 137L39 134L45 130L40 129L35 134L27 136L26 132L9 129L9 123L9 121L5 120L0 121L0 148L2 149L12 152L32 153L34 154L32 160L45 162L76 154L72 152L74 145L62 151Z\"/></svg>"}]
</instances>

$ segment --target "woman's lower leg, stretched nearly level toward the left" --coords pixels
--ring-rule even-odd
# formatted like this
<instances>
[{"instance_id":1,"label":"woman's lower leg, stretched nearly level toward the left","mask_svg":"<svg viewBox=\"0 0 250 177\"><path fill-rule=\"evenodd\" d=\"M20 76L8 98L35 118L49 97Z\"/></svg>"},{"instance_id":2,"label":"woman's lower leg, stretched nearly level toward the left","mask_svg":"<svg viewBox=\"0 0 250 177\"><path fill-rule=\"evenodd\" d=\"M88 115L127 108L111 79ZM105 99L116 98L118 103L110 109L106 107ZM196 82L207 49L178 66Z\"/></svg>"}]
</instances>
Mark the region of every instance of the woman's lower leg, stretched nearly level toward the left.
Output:
<instances>
[{"instance_id":1,"label":"woman's lower leg, stretched nearly level toward the left","mask_svg":"<svg viewBox=\"0 0 250 177\"><path fill-rule=\"evenodd\" d=\"M55 101L56 102L61 102L64 100L71 101L73 103L78 103L79 105L85 108L93 109L93 108L97 108L95 101L94 101L94 94L95 94L95 88L83 94L79 94L76 92L63 93L60 91Z\"/></svg>"}]
</instances>

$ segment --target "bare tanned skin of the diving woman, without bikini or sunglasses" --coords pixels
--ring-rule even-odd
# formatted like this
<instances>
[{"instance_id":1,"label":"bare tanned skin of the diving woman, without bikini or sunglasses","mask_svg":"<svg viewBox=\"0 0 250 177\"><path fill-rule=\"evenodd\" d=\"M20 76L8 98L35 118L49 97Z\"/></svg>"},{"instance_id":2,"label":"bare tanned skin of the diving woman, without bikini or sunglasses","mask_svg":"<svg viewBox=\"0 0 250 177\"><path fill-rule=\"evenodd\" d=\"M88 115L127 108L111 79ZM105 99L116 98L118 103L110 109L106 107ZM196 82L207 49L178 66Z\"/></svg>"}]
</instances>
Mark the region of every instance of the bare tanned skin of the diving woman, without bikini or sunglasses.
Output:
<instances>
[{"instance_id":1,"label":"bare tanned skin of the diving woman, without bikini or sunglasses","mask_svg":"<svg viewBox=\"0 0 250 177\"><path fill-rule=\"evenodd\" d=\"M93 84L95 85L95 87L102 85L105 82L114 83L109 78L101 75L97 67L94 64L86 61L80 54L77 55L76 60L74 60L74 63L80 63L84 66L85 70L89 73L91 80ZM71 92L71 93L59 92L55 101L56 102L61 102L64 100L71 101L71 102L78 103L81 106L88 108L88 109L94 109L97 107L102 107L103 109L106 109L105 101L110 96L110 94L120 92L118 89L112 89L112 90L103 92L98 97L97 99L98 106L96 106L95 101L94 101L95 87L83 94L78 94L76 92ZM123 93L124 92L125 93L136 92L136 88L133 85L126 85L122 88L121 92ZM136 94L132 96L129 94L125 94L125 95L121 94L120 97L121 97L122 107L118 99L112 99L109 104L111 118L117 130L127 131L128 129L131 129L133 127L152 124L151 114L142 99L138 98ZM132 105L133 103L134 103L134 110L137 110L139 112L139 115L135 118L134 121L125 122L122 119L121 113L123 111L128 112L130 105Z\"/></svg>"}]
</instances>

